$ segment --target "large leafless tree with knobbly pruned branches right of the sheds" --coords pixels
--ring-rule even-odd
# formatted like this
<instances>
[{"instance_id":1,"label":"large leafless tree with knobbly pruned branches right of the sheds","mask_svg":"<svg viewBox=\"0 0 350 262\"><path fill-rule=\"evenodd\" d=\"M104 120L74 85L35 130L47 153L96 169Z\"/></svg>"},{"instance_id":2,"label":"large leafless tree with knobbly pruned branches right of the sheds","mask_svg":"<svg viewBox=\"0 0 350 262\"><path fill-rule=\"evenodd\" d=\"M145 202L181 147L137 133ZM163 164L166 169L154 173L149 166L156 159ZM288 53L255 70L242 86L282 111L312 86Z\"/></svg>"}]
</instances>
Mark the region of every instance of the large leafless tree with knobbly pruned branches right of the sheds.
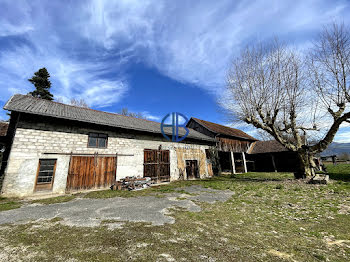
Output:
<instances>
[{"instance_id":1,"label":"large leafless tree with knobbly pruned branches right of the sheds","mask_svg":"<svg viewBox=\"0 0 350 262\"><path fill-rule=\"evenodd\" d=\"M233 61L224 106L234 120L264 130L297 152L296 178L313 174L313 156L350 119L349 37L344 26L333 25L324 29L310 54L274 40L247 47ZM317 142L308 143L317 135Z\"/></svg>"}]
</instances>

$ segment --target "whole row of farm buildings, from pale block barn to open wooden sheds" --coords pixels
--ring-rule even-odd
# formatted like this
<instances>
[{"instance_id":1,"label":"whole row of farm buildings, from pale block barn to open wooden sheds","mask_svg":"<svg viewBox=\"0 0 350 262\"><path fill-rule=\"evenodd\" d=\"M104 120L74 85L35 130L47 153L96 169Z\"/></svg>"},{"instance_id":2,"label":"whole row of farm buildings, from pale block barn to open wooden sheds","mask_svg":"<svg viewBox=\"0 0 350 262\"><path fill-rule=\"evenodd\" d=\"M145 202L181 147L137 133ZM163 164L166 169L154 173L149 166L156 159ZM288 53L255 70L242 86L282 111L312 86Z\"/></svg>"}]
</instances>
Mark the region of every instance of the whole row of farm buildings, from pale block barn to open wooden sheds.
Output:
<instances>
[{"instance_id":1,"label":"whole row of farm buildings, from pale block barn to open wooden sheds","mask_svg":"<svg viewBox=\"0 0 350 262\"><path fill-rule=\"evenodd\" d=\"M9 123L0 125L5 196L109 188L125 177L162 183L297 166L295 153L277 141L193 117L188 136L176 143L164 138L158 122L28 95L14 95L4 109L11 112ZM172 135L172 127L164 131Z\"/></svg>"}]
</instances>

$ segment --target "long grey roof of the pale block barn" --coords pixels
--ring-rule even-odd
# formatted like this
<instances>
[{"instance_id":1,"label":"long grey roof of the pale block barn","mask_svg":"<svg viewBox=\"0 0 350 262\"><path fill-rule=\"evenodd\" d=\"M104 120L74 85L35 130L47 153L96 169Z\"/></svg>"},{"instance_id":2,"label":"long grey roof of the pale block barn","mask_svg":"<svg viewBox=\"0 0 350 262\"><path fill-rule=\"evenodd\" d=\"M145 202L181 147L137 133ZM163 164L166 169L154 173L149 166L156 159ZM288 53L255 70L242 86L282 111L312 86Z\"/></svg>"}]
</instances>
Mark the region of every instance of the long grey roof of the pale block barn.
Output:
<instances>
[{"instance_id":1,"label":"long grey roof of the pale block barn","mask_svg":"<svg viewBox=\"0 0 350 262\"><path fill-rule=\"evenodd\" d=\"M66 105L58 102L35 98L29 95L13 95L5 104L4 109L61 119L76 120L98 125L120 127L137 131L145 131L157 134L161 133L160 123L158 122L93 110L89 108ZM171 127L165 128L165 133L167 135L171 135ZM185 133L186 131L184 128L179 128L179 136L183 136ZM197 140L211 142L214 141L213 138L199 133L193 129L190 129L189 135L187 137Z\"/></svg>"}]
</instances>

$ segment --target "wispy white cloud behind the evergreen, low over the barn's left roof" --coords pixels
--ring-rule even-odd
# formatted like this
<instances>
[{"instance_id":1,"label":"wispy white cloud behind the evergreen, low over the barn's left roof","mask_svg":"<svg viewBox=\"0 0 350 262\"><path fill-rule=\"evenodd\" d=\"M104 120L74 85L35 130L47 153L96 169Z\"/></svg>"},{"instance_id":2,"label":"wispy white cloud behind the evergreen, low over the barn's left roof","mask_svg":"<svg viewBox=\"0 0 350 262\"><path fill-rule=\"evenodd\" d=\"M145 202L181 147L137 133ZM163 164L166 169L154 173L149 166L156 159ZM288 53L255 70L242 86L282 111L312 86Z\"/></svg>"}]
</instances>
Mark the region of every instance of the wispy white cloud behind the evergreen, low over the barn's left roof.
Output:
<instances>
[{"instance_id":1,"label":"wispy white cloud behind the evergreen, low over the barn's left roof","mask_svg":"<svg viewBox=\"0 0 350 262\"><path fill-rule=\"evenodd\" d=\"M82 63L64 54L56 57L20 47L0 55L0 85L9 87L1 92L0 100L4 102L14 93L31 91L34 87L27 79L44 66L51 75L52 92L65 102L77 98L90 106L105 107L120 101L129 88L121 77L101 77L110 71L105 64Z\"/></svg>"}]
</instances>

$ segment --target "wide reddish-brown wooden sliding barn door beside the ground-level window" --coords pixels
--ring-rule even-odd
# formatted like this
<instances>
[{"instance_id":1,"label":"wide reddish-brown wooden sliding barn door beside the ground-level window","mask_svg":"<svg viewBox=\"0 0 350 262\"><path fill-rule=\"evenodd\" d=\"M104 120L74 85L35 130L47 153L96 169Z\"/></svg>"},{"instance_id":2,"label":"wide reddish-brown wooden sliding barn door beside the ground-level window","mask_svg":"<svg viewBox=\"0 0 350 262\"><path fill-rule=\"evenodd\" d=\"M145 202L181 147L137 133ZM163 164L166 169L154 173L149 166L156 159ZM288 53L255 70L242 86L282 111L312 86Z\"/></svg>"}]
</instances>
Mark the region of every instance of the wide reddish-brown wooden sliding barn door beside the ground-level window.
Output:
<instances>
[{"instance_id":1,"label":"wide reddish-brown wooden sliding barn door beside the ground-level window","mask_svg":"<svg viewBox=\"0 0 350 262\"><path fill-rule=\"evenodd\" d=\"M110 187L115 182L116 157L72 156L66 189Z\"/></svg>"}]
</instances>

